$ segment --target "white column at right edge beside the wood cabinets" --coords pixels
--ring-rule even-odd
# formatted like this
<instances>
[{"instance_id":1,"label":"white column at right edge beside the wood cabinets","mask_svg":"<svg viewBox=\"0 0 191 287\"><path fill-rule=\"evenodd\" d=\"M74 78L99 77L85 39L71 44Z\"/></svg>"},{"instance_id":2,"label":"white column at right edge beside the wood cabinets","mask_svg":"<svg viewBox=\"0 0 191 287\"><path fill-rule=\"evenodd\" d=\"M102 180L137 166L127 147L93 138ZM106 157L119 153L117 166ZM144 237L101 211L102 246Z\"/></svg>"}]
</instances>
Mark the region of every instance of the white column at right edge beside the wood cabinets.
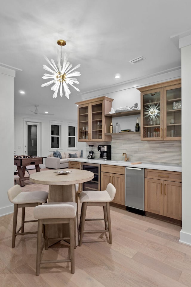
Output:
<instances>
[{"instance_id":1,"label":"white column at right edge beside the wood cabinets","mask_svg":"<svg viewBox=\"0 0 191 287\"><path fill-rule=\"evenodd\" d=\"M182 230L179 242L191 245L191 38L179 41L182 70Z\"/></svg>"}]
</instances>

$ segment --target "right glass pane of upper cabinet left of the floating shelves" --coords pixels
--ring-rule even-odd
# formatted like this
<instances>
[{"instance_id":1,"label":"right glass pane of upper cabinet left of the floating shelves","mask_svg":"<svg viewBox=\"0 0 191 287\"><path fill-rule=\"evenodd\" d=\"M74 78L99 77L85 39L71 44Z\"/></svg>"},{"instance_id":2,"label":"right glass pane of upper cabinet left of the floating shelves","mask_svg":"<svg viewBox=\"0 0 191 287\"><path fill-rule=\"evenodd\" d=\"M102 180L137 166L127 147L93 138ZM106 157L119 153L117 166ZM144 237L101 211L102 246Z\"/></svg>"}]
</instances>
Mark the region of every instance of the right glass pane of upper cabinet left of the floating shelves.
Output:
<instances>
[{"instance_id":1,"label":"right glass pane of upper cabinet left of the floating shelves","mask_svg":"<svg viewBox=\"0 0 191 287\"><path fill-rule=\"evenodd\" d=\"M92 139L102 139L102 103L92 105Z\"/></svg>"}]
</instances>

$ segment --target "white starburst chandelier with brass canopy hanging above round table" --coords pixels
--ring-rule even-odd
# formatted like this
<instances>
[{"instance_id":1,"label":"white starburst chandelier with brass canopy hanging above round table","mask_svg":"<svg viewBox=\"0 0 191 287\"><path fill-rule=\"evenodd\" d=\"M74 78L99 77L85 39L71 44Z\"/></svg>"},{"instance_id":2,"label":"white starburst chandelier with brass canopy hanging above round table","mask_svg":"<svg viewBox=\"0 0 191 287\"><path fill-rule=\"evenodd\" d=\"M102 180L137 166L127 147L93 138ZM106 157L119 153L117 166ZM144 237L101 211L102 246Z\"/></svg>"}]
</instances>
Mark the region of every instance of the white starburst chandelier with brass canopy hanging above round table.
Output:
<instances>
[{"instance_id":1,"label":"white starburst chandelier with brass canopy hanging above round table","mask_svg":"<svg viewBox=\"0 0 191 287\"><path fill-rule=\"evenodd\" d=\"M78 71L74 71L75 69L79 68L80 65L77 65L76 67L72 68L72 65L70 62L68 62L68 56L66 53L64 53L64 59L62 59L62 46L66 45L66 41L64 40L58 40L57 44L61 46L61 53L59 52L59 49L57 50L57 61L58 66L56 66L53 59L51 59L51 62L49 59L44 56L44 58L47 60L47 62L50 64L50 66L53 68L49 68L47 65L43 65L43 69L49 71L52 74L44 74L43 79L53 79L50 82L44 83L41 85L41 87L47 87L51 84L54 84L51 87L51 90L54 91L53 98L57 97L58 90L60 88L60 95L62 97L62 86L64 88L64 94L69 99L70 90L68 87L68 84L76 89L76 91L80 91L78 88L76 88L73 83L79 84L77 79L71 78L71 77L77 77L81 74ZM71 70L70 70L71 69Z\"/></svg>"}]
</instances>

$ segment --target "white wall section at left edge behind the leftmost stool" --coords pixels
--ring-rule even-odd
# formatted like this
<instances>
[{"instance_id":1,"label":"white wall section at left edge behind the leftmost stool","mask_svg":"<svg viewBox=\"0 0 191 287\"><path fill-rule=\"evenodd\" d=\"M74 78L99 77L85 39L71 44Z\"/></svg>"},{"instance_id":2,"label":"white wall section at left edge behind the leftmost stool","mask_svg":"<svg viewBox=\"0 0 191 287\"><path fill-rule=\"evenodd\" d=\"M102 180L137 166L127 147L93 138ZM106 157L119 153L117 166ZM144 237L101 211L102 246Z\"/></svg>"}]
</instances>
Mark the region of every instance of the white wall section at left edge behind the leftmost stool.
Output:
<instances>
[{"instance_id":1,"label":"white wall section at left edge behind the leftmost stool","mask_svg":"<svg viewBox=\"0 0 191 287\"><path fill-rule=\"evenodd\" d=\"M13 204L8 200L7 190L14 184L13 169L13 114L14 114L15 71L0 67L0 150L1 150L1 200L0 216L13 212Z\"/></svg>"}]
</instances>

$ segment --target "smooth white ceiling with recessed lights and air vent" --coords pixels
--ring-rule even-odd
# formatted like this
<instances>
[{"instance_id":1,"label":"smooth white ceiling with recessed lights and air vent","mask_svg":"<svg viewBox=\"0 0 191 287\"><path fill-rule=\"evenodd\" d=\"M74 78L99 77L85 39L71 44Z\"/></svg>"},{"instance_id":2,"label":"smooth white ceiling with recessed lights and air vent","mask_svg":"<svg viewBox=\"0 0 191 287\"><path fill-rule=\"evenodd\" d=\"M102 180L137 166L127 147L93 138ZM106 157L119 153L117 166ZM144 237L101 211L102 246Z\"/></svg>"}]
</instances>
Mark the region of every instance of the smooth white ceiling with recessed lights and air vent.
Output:
<instances>
[{"instance_id":1,"label":"smooth white ceiling with recessed lights and air vent","mask_svg":"<svg viewBox=\"0 0 191 287\"><path fill-rule=\"evenodd\" d=\"M73 118L79 92L70 87L69 100L59 93L53 99L51 86L41 87L44 55L56 62L58 39L66 40L73 67L81 64L80 93L178 69L181 53L170 37L191 29L190 11L190 0L1 1L0 62L22 70L16 70L15 114L32 115L38 104L39 113ZM146 60L129 63L139 56Z\"/></svg>"}]
</instances>

